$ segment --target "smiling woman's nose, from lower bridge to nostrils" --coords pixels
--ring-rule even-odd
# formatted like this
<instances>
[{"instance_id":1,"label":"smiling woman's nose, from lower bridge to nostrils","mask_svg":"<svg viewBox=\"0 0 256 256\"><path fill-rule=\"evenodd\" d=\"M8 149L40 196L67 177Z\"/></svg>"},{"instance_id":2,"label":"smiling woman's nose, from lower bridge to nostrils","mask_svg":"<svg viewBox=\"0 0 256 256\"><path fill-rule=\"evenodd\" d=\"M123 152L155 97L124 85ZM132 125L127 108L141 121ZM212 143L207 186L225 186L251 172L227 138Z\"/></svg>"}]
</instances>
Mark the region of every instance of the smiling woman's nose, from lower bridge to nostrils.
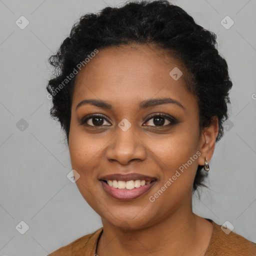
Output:
<instances>
[{"instance_id":1,"label":"smiling woman's nose, from lower bridge to nostrils","mask_svg":"<svg viewBox=\"0 0 256 256\"><path fill-rule=\"evenodd\" d=\"M118 127L106 148L105 156L109 161L118 161L121 164L142 161L146 158L146 147L132 127L126 131Z\"/></svg>"}]
</instances>

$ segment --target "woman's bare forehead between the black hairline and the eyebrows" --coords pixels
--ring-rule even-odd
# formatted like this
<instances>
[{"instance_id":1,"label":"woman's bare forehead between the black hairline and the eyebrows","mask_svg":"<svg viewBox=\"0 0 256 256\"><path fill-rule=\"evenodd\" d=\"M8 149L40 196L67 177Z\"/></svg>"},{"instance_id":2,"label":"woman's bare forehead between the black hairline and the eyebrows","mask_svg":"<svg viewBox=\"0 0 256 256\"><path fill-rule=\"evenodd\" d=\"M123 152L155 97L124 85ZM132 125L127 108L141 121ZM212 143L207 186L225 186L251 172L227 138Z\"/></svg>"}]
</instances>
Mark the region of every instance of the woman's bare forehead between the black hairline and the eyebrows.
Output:
<instances>
[{"instance_id":1,"label":"woman's bare forehead between the black hairline and the eyebrows","mask_svg":"<svg viewBox=\"0 0 256 256\"><path fill-rule=\"evenodd\" d=\"M174 68L183 73L177 80L169 74ZM123 104L154 95L185 100L191 96L185 86L185 74L183 63L159 47L111 46L99 49L78 72L73 101L100 98Z\"/></svg>"}]
</instances>

